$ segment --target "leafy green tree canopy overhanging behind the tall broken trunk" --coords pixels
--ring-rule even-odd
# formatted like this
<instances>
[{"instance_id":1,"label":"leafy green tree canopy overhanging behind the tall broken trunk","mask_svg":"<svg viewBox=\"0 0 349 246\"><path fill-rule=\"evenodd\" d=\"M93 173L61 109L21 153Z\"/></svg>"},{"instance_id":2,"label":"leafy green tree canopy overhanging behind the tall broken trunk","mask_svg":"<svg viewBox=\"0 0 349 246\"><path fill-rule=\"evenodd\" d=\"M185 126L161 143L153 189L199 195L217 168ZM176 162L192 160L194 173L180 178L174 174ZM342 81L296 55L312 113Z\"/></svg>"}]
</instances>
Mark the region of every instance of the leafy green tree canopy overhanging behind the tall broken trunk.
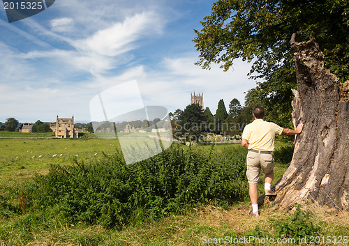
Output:
<instances>
[{"instance_id":1,"label":"leafy green tree canopy overhanging behind the tall broken trunk","mask_svg":"<svg viewBox=\"0 0 349 246\"><path fill-rule=\"evenodd\" d=\"M228 70L235 59L253 61L248 75L258 86L246 105L266 107L267 119L290 125L291 88L296 86L290 39L315 38L325 66L341 81L349 78L349 3L347 0L218 0L193 42L202 68L211 63ZM274 112L274 115L268 114Z\"/></svg>"}]
</instances>

